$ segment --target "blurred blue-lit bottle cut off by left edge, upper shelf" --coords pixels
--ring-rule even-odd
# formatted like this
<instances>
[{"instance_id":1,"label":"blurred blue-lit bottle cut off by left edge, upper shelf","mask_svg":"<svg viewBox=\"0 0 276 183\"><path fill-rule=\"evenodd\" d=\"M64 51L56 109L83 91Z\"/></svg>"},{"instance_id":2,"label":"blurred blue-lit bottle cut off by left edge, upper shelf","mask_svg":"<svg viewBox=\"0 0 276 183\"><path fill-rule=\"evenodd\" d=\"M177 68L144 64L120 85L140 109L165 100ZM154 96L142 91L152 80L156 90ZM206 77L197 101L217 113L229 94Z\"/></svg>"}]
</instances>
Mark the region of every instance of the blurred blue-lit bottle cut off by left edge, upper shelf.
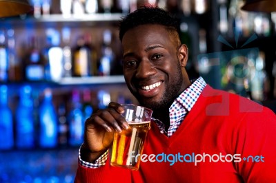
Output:
<instances>
[{"instance_id":1,"label":"blurred blue-lit bottle cut off by left edge, upper shelf","mask_svg":"<svg viewBox=\"0 0 276 183\"><path fill-rule=\"evenodd\" d=\"M0 82L8 80L8 49L5 31L0 30Z\"/></svg>"}]
</instances>

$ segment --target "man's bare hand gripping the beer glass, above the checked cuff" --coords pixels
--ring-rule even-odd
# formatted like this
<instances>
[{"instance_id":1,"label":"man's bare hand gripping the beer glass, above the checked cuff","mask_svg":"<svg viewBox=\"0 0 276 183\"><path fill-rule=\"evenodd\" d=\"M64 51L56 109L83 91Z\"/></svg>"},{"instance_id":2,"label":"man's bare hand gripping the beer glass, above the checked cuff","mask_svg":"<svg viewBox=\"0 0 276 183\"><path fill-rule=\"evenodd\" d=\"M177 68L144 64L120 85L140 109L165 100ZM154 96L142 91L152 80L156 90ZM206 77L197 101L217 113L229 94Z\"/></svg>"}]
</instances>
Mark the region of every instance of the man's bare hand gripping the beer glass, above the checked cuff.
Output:
<instances>
[{"instance_id":1,"label":"man's bare hand gripping the beer glass, above the checked cuff","mask_svg":"<svg viewBox=\"0 0 276 183\"><path fill-rule=\"evenodd\" d=\"M113 142L114 132L128 129L128 122L121 116L124 107L111 102L107 109L101 109L86 120L81 159L94 162L106 152Z\"/></svg>"}]
</instances>

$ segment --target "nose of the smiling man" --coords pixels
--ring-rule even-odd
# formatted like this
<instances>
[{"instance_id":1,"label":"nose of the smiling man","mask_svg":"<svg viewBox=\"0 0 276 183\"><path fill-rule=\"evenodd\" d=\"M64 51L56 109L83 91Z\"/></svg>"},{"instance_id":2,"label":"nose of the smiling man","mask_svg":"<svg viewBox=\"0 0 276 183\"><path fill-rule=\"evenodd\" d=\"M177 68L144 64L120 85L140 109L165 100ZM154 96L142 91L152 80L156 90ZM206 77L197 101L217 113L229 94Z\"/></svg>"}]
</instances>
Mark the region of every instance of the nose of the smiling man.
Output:
<instances>
[{"instance_id":1,"label":"nose of the smiling man","mask_svg":"<svg viewBox=\"0 0 276 183\"><path fill-rule=\"evenodd\" d=\"M154 65L148 59L144 59L139 63L136 78L148 78L148 76L152 76L156 72L157 70Z\"/></svg>"}]
</instances>

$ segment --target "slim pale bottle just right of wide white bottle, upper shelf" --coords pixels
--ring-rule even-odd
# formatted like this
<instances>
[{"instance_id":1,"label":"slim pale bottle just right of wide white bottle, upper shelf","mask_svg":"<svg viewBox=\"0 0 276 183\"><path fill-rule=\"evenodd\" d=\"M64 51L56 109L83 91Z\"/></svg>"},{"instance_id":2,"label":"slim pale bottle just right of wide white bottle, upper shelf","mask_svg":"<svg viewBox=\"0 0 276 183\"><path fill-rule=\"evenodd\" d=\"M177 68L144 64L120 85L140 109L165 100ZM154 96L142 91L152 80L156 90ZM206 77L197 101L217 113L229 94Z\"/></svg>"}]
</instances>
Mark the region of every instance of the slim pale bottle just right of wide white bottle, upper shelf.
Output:
<instances>
[{"instance_id":1,"label":"slim pale bottle just right of wide white bottle, upper shelf","mask_svg":"<svg viewBox=\"0 0 276 183\"><path fill-rule=\"evenodd\" d=\"M63 40L63 77L72 77L72 50L70 47L70 28L62 29Z\"/></svg>"}]
</instances>

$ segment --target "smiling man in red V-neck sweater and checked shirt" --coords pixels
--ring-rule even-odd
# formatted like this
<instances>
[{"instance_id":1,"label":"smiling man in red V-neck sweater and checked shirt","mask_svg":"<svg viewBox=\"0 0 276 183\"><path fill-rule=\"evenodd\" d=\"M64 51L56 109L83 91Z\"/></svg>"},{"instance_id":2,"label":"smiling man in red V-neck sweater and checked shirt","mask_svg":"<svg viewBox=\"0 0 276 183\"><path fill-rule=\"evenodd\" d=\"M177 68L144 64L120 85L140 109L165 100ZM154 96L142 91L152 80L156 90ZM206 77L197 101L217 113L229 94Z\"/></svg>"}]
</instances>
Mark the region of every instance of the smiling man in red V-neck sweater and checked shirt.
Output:
<instances>
[{"instance_id":1,"label":"smiling man in red V-neck sweater and checked shirt","mask_svg":"<svg viewBox=\"0 0 276 183\"><path fill-rule=\"evenodd\" d=\"M75 182L276 181L275 114L201 77L191 82L177 19L141 8L121 21L119 37L128 89L153 110L148 160L138 171L110 166L113 132L129 128L112 102L86 120Z\"/></svg>"}]
</instances>

